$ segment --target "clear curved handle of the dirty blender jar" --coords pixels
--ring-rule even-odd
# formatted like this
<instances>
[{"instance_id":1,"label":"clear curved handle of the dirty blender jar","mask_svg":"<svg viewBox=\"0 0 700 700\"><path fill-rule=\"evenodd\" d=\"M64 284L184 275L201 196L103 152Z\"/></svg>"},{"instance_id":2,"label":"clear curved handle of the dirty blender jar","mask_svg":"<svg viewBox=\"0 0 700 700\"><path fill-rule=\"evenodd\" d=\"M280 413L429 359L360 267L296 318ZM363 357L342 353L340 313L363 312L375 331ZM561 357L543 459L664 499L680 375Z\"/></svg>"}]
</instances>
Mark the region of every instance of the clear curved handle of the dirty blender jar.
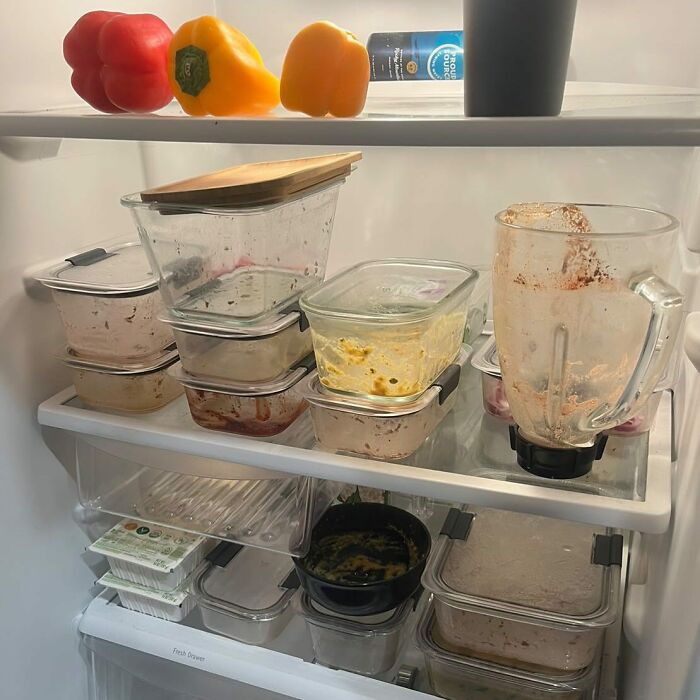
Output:
<instances>
[{"instance_id":1,"label":"clear curved handle of the dirty blender jar","mask_svg":"<svg viewBox=\"0 0 700 700\"><path fill-rule=\"evenodd\" d=\"M637 366L617 403L602 406L589 417L588 427L595 432L624 423L651 394L673 352L683 317L683 296L661 277L640 275L630 281L630 289L651 306L651 318Z\"/></svg>"}]
</instances>

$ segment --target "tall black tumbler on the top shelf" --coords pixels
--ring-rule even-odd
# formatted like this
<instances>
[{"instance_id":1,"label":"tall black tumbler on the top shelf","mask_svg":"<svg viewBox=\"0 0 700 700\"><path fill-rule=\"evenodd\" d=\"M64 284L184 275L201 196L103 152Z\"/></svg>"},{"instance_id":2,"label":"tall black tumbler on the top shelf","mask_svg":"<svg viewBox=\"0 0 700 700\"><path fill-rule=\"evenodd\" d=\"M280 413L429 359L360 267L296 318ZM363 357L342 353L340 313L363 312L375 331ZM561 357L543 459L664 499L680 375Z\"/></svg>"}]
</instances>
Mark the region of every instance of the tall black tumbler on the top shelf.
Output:
<instances>
[{"instance_id":1,"label":"tall black tumbler on the top shelf","mask_svg":"<svg viewBox=\"0 0 700 700\"><path fill-rule=\"evenodd\" d=\"M464 0L464 114L561 112L576 0Z\"/></svg>"}]
</instances>

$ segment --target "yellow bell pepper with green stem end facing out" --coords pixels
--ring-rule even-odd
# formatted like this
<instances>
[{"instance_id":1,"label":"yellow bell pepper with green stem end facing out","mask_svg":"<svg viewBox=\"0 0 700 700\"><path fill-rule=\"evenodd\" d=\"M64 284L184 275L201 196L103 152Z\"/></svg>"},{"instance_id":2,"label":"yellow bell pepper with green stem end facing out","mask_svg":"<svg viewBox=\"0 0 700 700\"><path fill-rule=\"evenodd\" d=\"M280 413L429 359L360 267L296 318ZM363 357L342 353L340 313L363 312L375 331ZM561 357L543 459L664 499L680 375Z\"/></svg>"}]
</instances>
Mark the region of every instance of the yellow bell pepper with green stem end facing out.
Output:
<instances>
[{"instance_id":1,"label":"yellow bell pepper with green stem end facing out","mask_svg":"<svg viewBox=\"0 0 700 700\"><path fill-rule=\"evenodd\" d=\"M264 114L279 104L279 80L248 37L216 17L200 17L175 32L168 78L187 114Z\"/></svg>"}]
</instances>

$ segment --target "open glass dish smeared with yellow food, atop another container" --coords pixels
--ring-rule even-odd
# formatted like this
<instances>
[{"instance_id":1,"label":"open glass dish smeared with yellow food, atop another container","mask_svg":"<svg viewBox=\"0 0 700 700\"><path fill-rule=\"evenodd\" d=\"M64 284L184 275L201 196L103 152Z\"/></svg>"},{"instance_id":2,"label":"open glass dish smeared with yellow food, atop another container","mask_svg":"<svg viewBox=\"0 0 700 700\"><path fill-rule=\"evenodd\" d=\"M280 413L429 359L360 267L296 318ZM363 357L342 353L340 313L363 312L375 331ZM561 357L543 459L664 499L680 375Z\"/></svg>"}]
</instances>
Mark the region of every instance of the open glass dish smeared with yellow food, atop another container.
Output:
<instances>
[{"instance_id":1,"label":"open glass dish smeared with yellow food, atop another container","mask_svg":"<svg viewBox=\"0 0 700 700\"><path fill-rule=\"evenodd\" d=\"M319 381L344 394L412 401L459 354L478 273L457 263L360 263L300 299Z\"/></svg>"}]
</instances>

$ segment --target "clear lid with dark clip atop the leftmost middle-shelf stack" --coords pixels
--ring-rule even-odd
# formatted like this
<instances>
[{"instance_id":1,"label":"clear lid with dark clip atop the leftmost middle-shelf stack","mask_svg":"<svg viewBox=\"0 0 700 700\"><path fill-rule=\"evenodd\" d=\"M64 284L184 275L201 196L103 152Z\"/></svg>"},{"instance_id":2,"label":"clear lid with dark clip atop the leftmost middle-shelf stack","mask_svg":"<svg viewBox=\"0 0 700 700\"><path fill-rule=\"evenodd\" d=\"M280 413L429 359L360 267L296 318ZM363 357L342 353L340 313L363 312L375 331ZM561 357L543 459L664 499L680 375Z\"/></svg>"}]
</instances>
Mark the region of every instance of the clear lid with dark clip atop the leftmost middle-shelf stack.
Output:
<instances>
[{"instance_id":1,"label":"clear lid with dark clip atop the leftmost middle-shelf stack","mask_svg":"<svg viewBox=\"0 0 700 700\"><path fill-rule=\"evenodd\" d=\"M143 294L158 287L146 254L135 241L72 253L36 279L52 289L100 296Z\"/></svg>"}]
</instances>

